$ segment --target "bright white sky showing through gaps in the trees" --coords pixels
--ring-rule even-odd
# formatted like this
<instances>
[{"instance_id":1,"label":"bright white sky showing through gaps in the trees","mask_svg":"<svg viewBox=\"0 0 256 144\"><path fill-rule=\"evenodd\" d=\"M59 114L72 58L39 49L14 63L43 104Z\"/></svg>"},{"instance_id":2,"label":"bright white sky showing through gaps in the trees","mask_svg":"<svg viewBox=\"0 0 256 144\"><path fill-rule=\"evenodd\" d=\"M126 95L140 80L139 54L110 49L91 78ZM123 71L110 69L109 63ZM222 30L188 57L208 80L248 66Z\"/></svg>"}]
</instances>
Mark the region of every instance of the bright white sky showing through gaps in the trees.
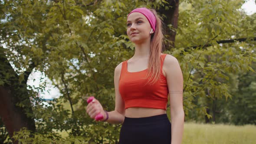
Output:
<instances>
[{"instance_id":1,"label":"bright white sky showing through gaps in the trees","mask_svg":"<svg viewBox=\"0 0 256 144\"><path fill-rule=\"evenodd\" d=\"M256 4L254 0L248 0L246 3L243 4L241 7L247 15L252 15L253 13L256 13ZM41 82L40 82L41 79ZM39 92L39 97L46 98L46 99L52 99L52 98L58 98L60 96L60 92L58 88L54 88L52 85L51 80L49 80L44 74L42 74L39 71L32 72L28 78L27 85L33 86L34 90L36 91L36 88L39 87L40 84L43 84L43 82L46 82L46 89L43 92Z\"/></svg>"}]
</instances>

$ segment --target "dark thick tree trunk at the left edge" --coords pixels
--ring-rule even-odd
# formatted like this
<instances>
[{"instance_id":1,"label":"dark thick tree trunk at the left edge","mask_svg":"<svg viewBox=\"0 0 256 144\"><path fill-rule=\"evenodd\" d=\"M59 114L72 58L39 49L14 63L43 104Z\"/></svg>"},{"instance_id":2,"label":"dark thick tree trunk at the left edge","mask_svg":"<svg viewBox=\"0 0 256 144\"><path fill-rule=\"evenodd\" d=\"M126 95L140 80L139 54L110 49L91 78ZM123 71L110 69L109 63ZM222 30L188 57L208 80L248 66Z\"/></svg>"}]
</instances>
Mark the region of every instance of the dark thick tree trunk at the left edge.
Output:
<instances>
[{"instance_id":1,"label":"dark thick tree trunk at the left edge","mask_svg":"<svg viewBox=\"0 0 256 144\"><path fill-rule=\"evenodd\" d=\"M25 80L19 82L19 76L14 72L3 52L0 53L0 67L0 79L3 82L0 85L0 117L9 136L12 137L13 132L20 131L23 127L35 131L35 121L26 115L26 113L32 113L32 105L26 88L30 72L25 72ZM16 105L20 102L24 104L24 107ZM12 141L17 144L17 141L13 139Z\"/></svg>"}]
</instances>

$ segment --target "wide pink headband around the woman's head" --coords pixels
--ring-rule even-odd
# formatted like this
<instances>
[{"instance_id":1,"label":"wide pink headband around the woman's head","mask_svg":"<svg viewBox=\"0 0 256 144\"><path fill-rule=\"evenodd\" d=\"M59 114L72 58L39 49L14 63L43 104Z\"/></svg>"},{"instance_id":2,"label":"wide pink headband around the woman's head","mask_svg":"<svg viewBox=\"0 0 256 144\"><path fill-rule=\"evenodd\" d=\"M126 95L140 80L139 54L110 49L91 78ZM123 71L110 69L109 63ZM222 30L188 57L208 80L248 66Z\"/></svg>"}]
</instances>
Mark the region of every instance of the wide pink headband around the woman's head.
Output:
<instances>
[{"instance_id":1,"label":"wide pink headband around the woman's head","mask_svg":"<svg viewBox=\"0 0 256 144\"><path fill-rule=\"evenodd\" d=\"M144 16L146 16L146 18L148 19L148 22L150 23L151 28L155 31L157 19L150 10L148 10L145 7L141 7L141 8L137 8L137 9L134 9L131 11L131 13L134 13L134 12L142 13ZM128 16L131 13L129 13ZM128 18L128 16L127 16L127 18Z\"/></svg>"}]
</instances>

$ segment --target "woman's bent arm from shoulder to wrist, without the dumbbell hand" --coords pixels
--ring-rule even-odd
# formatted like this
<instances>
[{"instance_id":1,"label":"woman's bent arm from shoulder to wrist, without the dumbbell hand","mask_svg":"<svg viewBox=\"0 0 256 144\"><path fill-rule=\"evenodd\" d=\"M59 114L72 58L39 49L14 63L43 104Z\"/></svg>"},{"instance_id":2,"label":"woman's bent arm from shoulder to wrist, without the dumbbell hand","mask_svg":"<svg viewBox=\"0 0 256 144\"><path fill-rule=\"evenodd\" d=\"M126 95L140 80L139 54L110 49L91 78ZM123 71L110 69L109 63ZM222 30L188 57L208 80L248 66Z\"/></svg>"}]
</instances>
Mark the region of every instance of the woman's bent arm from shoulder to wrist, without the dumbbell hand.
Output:
<instances>
[{"instance_id":1,"label":"woman's bent arm from shoulder to wrist, without the dumbbell hand","mask_svg":"<svg viewBox=\"0 0 256 144\"><path fill-rule=\"evenodd\" d=\"M114 74L114 84L115 84L115 110L108 112L108 123L111 124L122 124L125 119L125 103L119 93L119 78L121 74L122 62L116 66ZM106 119L106 114L103 120Z\"/></svg>"}]
</instances>

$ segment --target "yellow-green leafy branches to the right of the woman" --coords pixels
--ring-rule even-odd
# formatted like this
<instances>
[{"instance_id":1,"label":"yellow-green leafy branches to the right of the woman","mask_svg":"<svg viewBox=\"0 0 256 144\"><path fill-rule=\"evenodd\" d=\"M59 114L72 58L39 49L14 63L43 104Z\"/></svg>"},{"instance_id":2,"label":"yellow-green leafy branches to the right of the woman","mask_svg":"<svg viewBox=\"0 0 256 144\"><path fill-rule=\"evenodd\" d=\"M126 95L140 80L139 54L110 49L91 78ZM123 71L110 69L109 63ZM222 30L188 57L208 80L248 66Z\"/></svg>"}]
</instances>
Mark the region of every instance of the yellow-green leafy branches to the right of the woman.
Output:
<instances>
[{"instance_id":1,"label":"yellow-green leafy branches to the right of the woman","mask_svg":"<svg viewBox=\"0 0 256 144\"><path fill-rule=\"evenodd\" d=\"M255 36L256 15L246 16L240 12L242 2L195 0L181 3L177 49L170 53L180 60L183 71L187 120L203 121L204 114L211 118L206 111L213 110L214 101L232 97L230 73L253 71L250 65L256 60L255 42L220 43L222 39ZM211 46L206 47L209 44ZM188 49L191 46L200 47ZM181 52L184 55L180 55Z\"/></svg>"}]
</instances>

